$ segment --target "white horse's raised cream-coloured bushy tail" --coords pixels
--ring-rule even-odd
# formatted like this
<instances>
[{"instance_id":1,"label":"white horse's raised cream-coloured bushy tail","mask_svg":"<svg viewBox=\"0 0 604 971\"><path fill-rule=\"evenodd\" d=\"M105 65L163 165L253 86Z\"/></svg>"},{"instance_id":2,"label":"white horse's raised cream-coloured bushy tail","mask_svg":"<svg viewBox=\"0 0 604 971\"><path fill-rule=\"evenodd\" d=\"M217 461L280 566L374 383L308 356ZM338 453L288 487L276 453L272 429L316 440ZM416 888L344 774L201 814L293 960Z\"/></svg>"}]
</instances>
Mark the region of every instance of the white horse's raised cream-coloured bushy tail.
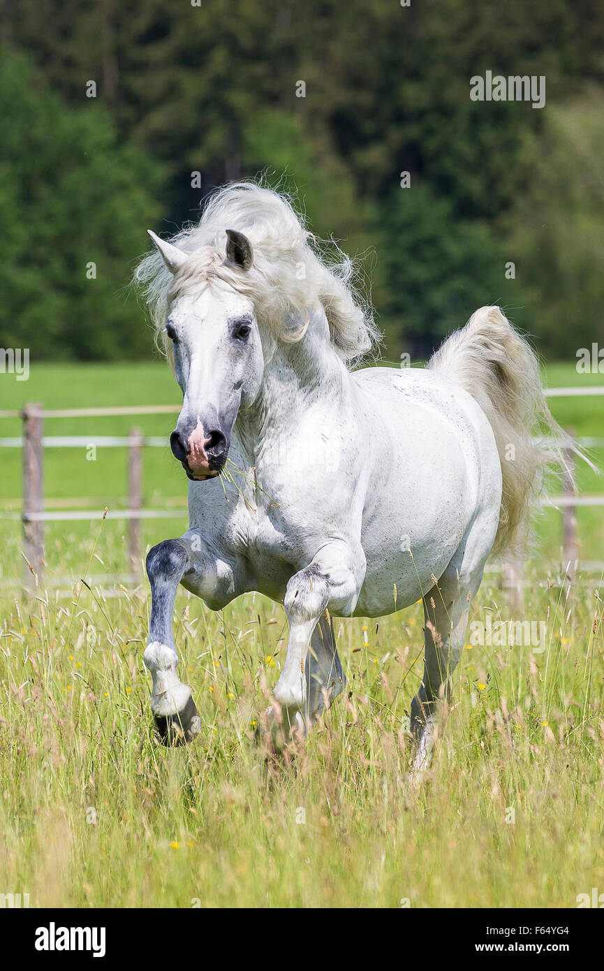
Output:
<instances>
[{"instance_id":1,"label":"white horse's raised cream-coloured bushy tail","mask_svg":"<svg viewBox=\"0 0 604 971\"><path fill-rule=\"evenodd\" d=\"M503 476L493 551L519 547L526 540L530 501L543 487L546 467L566 467L563 446L579 451L550 414L535 352L498 307L481 307L427 366L462 385L485 412ZM533 436L544 428L551 437L537 442Z\"/></svg>"}]
</instances>

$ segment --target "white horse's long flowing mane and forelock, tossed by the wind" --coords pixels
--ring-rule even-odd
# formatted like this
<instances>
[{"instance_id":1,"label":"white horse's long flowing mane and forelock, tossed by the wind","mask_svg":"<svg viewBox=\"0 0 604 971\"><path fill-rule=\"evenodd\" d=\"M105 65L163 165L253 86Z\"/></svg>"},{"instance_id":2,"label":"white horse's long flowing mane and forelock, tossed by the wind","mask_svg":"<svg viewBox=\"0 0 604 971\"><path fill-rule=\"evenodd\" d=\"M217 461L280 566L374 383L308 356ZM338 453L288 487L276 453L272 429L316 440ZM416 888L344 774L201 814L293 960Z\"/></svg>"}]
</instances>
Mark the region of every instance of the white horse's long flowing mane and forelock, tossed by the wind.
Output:
<instances>
[{"instance_id":1,"label":"white horse's long flowing mane and forelock, tossed by the wind","mask_svg":"<svg viewBox=\"0 0 604 971\"><path fill-rule=\"evenodd\" d=\"M252 267L242 271L225 260L226 230L244 233L252 244ZM325 255L282 193L252 182L218 189L198 223L171 237L189 258L176 277L157 251L143 257L134 280L142 286L159 339L168 305L179 293L219 279L249 296L259 325L278 340L304 335L309 314L319 307L329 324L331 344L352 362L380 339L371 306L352 285L352 260L337 247L337 260Z\"/></svg>"}]
</instances>

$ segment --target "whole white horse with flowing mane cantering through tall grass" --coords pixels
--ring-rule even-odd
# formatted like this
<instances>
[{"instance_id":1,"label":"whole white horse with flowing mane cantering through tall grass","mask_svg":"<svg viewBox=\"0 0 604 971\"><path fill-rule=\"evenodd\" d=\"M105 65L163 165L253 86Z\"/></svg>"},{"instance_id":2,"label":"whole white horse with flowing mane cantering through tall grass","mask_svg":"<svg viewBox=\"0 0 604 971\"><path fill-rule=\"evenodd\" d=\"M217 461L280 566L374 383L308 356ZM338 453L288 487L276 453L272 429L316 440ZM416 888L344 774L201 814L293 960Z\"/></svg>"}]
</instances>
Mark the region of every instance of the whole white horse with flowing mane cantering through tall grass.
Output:
<instances>
[{"instance_id":1,"label":"whole white horse with flowing mane cantering through tall grass","mask_svg":"<svg viewBox=\"0 0 604 971\"><path fill-rule=\"evenodd\" d=\"M540 420L559 431L534 353L483 307L425 369L351 371L376 331L350 265L327 265L285 198L255 184L223 188L171 242L151 237L137 278L183 391L170 444L190 521L147 559L160 736L200 729L172 635L179 584L213 610L249 590L285 604L273 713L302 730L346 684L330 615L380 617L421 597L421 767L487 556L519 537L548 458L532 432Z\"/></svg>"}]
</instances>

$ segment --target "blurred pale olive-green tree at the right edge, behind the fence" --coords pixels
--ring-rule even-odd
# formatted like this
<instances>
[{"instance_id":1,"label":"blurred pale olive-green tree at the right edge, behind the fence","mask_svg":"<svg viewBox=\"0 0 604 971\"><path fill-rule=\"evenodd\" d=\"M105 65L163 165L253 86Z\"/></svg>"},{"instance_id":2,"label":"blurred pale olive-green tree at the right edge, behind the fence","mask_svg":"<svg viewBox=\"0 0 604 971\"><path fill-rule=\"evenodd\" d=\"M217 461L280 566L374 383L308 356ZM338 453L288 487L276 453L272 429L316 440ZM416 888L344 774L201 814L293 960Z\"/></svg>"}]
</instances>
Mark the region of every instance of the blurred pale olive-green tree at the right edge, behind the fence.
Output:
<instances>
[{"instance_id":1,"label":"blurred pale olive-green tree at the right edge, behind the fence","mask_svg":"<svg viewBox=\"0 0 604 971\"><path fill-rule=\"evenodd\" d=\"M575 360L602 345L604 267L604 95L553 106L538 137L527 137L530 190L506 226L524 309L520 318L544 352Z\"/></svg>"}]
</instances>

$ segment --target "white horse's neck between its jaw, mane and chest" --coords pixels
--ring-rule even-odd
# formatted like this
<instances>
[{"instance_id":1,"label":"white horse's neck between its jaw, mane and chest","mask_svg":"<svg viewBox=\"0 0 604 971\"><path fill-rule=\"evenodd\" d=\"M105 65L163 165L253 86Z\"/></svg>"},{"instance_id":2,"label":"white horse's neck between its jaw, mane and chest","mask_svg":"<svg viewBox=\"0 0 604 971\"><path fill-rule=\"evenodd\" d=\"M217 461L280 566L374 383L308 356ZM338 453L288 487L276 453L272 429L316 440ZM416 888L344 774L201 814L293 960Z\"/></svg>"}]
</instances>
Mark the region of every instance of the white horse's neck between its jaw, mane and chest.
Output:
<instances>
[{"instance_id":1,"label":"white horse's neck between its jaw, mane and chest","mask_svg":"<svg viewBox=\"0 0 604 971\"><path fill-rule=\"evenodd\" d=\"M280 341L265 365L256 401L236 422L237 437L252 463L271 441L289 436L311 405L338 408L350 382L345 364L316 329L295 344Z\"/></svg>"}]
</instances>

